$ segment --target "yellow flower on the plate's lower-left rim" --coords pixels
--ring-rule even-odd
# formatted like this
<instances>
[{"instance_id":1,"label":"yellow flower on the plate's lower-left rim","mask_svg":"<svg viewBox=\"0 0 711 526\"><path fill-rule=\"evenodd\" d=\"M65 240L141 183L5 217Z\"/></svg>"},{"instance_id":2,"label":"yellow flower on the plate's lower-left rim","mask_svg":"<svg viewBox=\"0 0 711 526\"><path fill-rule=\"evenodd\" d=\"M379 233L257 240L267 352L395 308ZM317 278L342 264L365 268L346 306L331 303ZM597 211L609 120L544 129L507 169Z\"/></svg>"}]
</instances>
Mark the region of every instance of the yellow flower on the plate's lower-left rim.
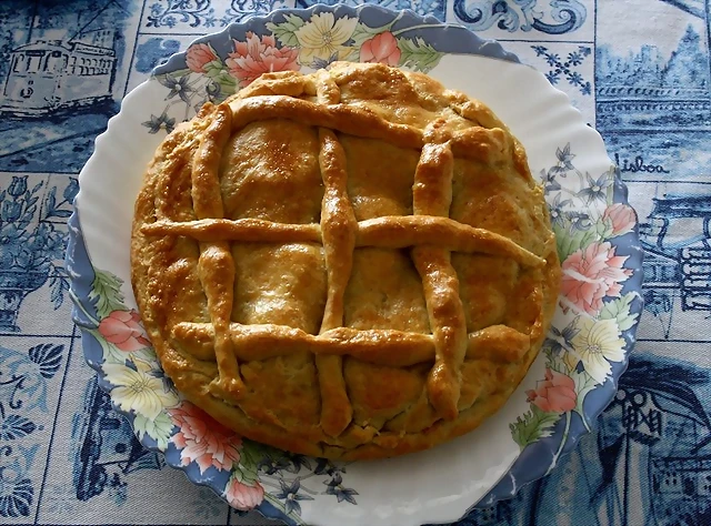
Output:
<instances>
[{"instance_id":1,"label":"yellow flower on the plate's lower-left rim","mask_svg":"<svg viewBox=\"0 0 711 526\"><path fill-rule=\"evenodd\" d=\"M123 411L134 411L149 421L154 419L166 407L178 404L178 396L166 391L163 381L152 374L151 365L134 360L136 371L124 364L104 363L101 368L107 381L113 385L111 398Z\"/></svg>"}]
</instances>

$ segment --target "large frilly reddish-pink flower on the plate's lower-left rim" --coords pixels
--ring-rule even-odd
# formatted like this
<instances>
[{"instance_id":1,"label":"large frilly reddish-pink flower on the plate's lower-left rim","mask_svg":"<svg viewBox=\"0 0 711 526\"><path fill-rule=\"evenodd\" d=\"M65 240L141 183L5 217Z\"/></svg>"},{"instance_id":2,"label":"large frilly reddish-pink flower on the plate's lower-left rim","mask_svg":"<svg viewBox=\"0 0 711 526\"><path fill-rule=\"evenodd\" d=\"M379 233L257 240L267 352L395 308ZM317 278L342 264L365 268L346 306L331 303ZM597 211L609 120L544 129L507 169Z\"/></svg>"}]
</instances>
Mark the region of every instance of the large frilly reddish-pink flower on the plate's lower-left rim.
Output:
<instances>
[{"instance_id":1,"label":"large frilly reddish-pink flower on the plate's lower-left rim","mask_svg":"<svg viewBox=\"0 0 711 526\"><path fill-rule=\"evenodd\" d=\"M190 402L183 402L168 412L173 424L180 427L171 442L180 449L183 466L194 461L200 466L200 473L204 473L210 466L230 469L232 464L239 462L242 439L233 431Z\"/></svg>"}]
</instances>

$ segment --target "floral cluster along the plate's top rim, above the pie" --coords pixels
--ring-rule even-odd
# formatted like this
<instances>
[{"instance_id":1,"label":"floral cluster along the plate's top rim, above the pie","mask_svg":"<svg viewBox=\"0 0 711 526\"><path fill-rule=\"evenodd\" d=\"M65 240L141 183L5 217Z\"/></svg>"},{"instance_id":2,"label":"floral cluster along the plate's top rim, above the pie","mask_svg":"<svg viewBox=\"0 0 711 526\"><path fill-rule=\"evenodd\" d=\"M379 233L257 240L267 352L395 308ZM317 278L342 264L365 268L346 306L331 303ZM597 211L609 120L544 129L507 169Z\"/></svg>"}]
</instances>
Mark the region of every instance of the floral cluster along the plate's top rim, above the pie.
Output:
<instances>
[{"instance_id":1,"label":"floral cluster along the plate's top rim, above the pie","mask_svg":"<svg viewBox=\"0 0 711 526\"><path fill-rule=\"evenodd\" d=\"M394 30L403 14L370 27L356 14L323 11L304 17L283 12L274 14L259 32L247 31L241 38L231 38L223 57L209 41L196 42L184 52L184 68L156 74L169 90L168 105L160 117L151 115L143 125L149 133L170 133L176 117L169 114L184 120L191 109L198 111L208 101L222 101L267 72L308 72L337 60L380 62L428 72L444 53L418 34L418 30L432 24Z\"/></svg>"}]
</instances>

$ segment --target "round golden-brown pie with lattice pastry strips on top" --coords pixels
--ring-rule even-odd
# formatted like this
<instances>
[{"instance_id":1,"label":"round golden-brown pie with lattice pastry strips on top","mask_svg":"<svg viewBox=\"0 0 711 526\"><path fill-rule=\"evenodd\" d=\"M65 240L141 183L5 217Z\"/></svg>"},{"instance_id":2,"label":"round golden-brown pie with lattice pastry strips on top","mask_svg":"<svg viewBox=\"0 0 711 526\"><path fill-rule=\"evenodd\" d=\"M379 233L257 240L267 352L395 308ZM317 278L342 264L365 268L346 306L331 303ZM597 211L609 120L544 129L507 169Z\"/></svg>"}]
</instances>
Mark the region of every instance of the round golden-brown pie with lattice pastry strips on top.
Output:
<instances>
[{"instance_id":1,"label":"round golden-brown pie with lattice pastry strips on top","mask_svg":"<svg viewBox=\"0 0 711 526\"><path fill-rule=\"evenodd\" d=\"M429 77L352 63L264 74L169 134L131 266L188 399L340 459L477 427L535 358L560 282L505 125Z\"/></svg>"}]
</instances>

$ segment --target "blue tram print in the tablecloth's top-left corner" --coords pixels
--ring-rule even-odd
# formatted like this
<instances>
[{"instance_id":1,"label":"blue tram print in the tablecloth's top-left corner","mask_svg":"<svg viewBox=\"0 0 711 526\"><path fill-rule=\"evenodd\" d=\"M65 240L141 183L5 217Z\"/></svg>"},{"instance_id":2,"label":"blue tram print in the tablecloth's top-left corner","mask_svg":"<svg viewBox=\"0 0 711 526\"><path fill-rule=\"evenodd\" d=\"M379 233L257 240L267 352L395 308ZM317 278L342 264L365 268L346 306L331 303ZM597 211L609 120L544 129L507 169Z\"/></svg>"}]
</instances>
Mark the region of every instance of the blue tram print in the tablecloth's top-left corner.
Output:
<instances>
[{"instance_id":1,"label":"blue tram print in the tablecloth's top-left corner","mask_svg":"<svg viewBox=\"0 0 711 526\"><path fill-rule=\"evenodd\" d=\"M77 173L123 95L134 2L0 2L0 171Z\"/></svg>"}]
</instances>

